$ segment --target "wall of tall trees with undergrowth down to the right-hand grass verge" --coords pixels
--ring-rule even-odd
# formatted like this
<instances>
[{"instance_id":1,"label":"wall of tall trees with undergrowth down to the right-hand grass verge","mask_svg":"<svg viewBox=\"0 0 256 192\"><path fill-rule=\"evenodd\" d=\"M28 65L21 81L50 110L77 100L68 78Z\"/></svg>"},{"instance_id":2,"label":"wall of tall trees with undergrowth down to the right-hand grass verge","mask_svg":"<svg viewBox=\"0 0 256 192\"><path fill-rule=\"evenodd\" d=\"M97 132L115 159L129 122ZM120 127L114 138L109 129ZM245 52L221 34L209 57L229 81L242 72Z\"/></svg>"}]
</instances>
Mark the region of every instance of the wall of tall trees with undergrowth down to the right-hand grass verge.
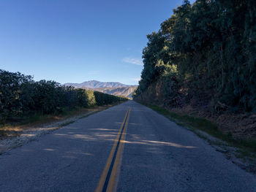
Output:
<instances>
[{"instance_id":1,"label":"wall of tall trees with undergrowth down to the right-hand grass verge","mask_svg":"<svg viewBox=\"0 0 256 192\"><path fill-rule=\"evenodd\" d=\"M237 138L255 138L255 14L252 0L185 0L148 34L133 99L206 118Z\"/></svg>"}]
</instances>

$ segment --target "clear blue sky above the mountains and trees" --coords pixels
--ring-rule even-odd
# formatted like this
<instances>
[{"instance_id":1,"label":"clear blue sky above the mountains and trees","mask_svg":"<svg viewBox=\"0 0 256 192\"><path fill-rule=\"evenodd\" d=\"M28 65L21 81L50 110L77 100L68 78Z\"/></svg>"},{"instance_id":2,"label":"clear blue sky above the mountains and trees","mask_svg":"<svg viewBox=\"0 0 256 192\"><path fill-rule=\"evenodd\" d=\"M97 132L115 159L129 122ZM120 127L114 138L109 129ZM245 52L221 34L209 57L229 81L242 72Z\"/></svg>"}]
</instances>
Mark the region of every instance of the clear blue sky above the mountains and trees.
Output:
<instances>
[{"instance_id":1,"label":"clear blue sky above the mountains and trees","mask_svg":"<svg viewBox=\"0 0 256 192\"><path fill-rule=\"evenodd\" d=\"M182 0L1 0L0 69L138 84L146 34Z\"/></svg>"}]
</instances>

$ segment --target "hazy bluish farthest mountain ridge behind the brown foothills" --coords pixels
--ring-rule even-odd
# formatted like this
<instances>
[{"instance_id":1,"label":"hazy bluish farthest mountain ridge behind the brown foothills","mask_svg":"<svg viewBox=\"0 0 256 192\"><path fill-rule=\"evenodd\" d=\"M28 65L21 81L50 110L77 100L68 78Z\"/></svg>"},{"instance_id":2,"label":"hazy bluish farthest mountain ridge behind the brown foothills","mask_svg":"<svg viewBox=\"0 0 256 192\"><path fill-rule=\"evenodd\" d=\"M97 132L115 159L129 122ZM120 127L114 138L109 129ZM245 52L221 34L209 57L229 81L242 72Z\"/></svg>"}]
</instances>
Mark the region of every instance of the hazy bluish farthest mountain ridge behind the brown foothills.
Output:
<instances>
[{"instance_id":1,"label":"hazy bluish farthest mountain ridge behind the brown foothills","mask_svg":"<svg viewBox=\"0 0 256 192\"><path fill-rule=\"evenodd\" d=\"M73 86L75 88L119 88L119 87L135 86L135 85L124 85L121 82L99 82L97 80L85 81L82 83L67 82L64 85Z\"/></svg>"}]
</instances>

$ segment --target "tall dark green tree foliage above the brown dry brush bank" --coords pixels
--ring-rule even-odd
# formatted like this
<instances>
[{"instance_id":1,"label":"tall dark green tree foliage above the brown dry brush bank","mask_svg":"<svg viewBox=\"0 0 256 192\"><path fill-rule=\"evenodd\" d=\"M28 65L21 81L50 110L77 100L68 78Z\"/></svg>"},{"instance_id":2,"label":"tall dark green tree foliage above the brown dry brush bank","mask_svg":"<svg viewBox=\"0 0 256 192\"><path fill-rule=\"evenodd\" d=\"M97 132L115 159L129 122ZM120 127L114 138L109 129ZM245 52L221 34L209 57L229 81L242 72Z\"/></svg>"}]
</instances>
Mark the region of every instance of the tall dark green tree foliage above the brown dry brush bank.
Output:
<instances>
[{"instance_id":1,"label":"tall dark green tree foliage above the brown dry brush bank","mask_svg":"<svg viewBox=\"0 0 256 192\"><path fill-rule=\"evenodd\" d=\"M168 98L184 94L189 101L205 96L255 112L255 2L197 0L191 5L184 1L158 33L148 35L143 63L136 96L163 77ZM175 73L170 70L173 66Z\"/></svg>"}]
</instances>

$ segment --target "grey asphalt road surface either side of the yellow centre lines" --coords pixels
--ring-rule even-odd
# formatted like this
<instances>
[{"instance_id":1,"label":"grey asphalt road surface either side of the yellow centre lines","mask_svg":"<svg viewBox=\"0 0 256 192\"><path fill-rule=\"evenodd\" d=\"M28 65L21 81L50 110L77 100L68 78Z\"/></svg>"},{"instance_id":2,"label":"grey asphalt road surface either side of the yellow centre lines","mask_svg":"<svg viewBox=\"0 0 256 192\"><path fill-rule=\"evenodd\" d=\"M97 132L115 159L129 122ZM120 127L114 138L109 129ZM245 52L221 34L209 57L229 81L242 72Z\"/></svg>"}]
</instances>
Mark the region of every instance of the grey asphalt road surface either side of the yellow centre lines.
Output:
<instances>
[{"instance_id":1,"label":"grey asphalt road surface either side of the yellow centre lines","mask_svg":"<svg viewBox=\"0 0 256 192\"><path fill-rule=\"evenodd\" d=\"M0 191L94 191L124 117L116 191L256 191L255 175L135 101L0 155Z\"/></svg>"}]
</instances>

